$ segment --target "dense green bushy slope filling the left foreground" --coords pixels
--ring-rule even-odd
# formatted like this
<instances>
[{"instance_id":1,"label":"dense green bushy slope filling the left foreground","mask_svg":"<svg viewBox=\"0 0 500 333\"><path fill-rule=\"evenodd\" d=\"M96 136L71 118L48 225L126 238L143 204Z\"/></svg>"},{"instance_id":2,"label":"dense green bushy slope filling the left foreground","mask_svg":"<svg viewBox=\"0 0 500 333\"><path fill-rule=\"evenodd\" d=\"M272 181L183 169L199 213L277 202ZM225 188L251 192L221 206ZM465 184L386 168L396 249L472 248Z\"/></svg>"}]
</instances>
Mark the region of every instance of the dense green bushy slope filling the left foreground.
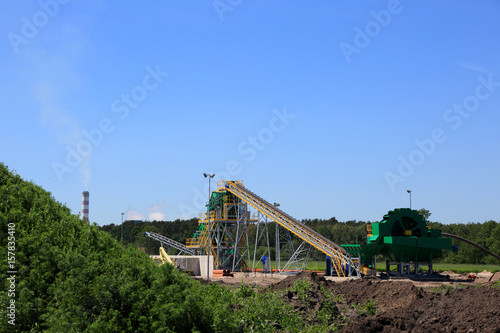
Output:
<instances>
[{"instance_id":1,"label":"dense green bushy slope filling the left foreground","mask_svg":"<svg viewBox=\"0 0 500 333\"><path fill-rule=\"evenodd\" d=\"M0 269L8 271L15 226L16 325L2 332L235 331L225 325L226 291L158 267L96 225L81 221L39 186L0 164ZM0 314L6 316L7 281ZM229 312L231 314L231 312Z\"/></svg>"}]
</instances>

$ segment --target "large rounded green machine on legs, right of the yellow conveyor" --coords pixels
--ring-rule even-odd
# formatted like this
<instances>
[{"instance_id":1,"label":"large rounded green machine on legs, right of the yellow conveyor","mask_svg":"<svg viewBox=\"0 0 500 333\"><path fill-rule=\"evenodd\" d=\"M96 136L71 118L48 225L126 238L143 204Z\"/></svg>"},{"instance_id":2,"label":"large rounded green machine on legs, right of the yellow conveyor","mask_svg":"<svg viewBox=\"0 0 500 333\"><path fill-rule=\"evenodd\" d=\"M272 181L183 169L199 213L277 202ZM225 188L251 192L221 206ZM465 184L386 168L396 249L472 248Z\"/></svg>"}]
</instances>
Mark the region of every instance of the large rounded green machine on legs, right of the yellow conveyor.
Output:
<instances>
[{"instance_id":1,"label":"large rounded green machine on legs, right of the yellow conveyor","mask_svg":"<svg viewBox=\"0 0 500 333\"><path fill-rule=\"evenodd\" d=\"M453 250L450 238L443 238L441 230L430 229L416 210L400 208L389 211L380 222L368 225L367 242L363 245L341 245L358 258L364 274L374 274L375 256L386 259L387 272L397 266L399 275L418 275L419 266L428 266L443 250Z\"/></svg>"}]
</instances>

